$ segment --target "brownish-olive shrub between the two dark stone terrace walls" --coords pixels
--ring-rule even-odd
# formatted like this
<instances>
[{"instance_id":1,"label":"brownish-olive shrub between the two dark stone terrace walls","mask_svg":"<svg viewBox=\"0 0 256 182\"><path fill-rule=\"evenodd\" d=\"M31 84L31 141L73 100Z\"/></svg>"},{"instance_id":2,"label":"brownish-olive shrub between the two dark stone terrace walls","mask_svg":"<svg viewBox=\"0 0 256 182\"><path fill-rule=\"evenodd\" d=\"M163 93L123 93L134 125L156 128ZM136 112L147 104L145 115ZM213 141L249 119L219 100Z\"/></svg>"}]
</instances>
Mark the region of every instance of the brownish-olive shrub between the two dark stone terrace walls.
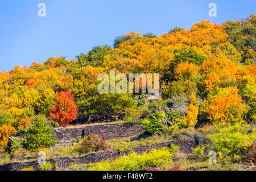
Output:
<instances>
[{"instance_id":1,"label":"brownish-olive shrub between the two dark stone terrace walls","mask_svg":"<svg viewBox=\"0 0 256 182\"><path fill-rule=\"evenodd\" d=\"M101 135L102 139L96 134L90 134L86 136L83 142L80 144L80 153L86 154L88 152L97 152L100 150L106 150L106 137Z\"/></svg>"}]
</instances>

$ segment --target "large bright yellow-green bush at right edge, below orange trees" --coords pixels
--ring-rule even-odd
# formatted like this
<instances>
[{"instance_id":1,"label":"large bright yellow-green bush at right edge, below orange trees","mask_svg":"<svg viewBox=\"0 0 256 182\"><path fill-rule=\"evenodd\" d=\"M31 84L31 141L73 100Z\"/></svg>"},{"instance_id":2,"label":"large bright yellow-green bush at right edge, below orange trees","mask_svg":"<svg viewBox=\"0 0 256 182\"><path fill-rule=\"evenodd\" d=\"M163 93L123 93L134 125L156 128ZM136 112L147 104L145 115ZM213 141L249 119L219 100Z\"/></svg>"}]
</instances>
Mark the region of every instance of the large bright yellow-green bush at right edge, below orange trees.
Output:
<instances>
[{"instance_id":1,"label":"large bright yellow-green bush at right edge, below orange trees","mask_svg":"<svg viewBox=\"0 0 256 182\"><path fill-rule=\"evenodd\" d=\"M246 154L247 148L256 139L255 134L247 133L249 127L246 123L215 125L214 133L208 135L212 141L210 150L221 152L222 156L229 156L231 159L239 159Z\"/></svg>"}]
</instances>

